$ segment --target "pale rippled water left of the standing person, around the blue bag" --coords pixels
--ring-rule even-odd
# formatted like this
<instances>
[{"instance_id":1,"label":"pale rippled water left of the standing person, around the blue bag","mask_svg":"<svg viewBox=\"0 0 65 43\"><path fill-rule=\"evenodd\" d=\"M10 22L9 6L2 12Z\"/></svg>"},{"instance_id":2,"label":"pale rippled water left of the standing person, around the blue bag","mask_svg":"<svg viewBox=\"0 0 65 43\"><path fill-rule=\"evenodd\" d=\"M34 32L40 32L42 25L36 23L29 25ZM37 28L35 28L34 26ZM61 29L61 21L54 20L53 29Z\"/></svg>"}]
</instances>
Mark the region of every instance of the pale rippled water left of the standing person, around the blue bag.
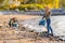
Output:
<instances>
[{"instance_id":1,"label":"pale rippled water left of the standing person, around the blue bag","mask_svg":"<svg viewBox=\"0 0 65 43\"><path fill-rule=\"evenodd\" d=\"M35 32L42 32L47 31L44 26L39 26L39 20L41 17L34 18L34 19L27 19L25 22L22 22L22 24L28 29L34 30Z\"/></svg>"}]
</instances>

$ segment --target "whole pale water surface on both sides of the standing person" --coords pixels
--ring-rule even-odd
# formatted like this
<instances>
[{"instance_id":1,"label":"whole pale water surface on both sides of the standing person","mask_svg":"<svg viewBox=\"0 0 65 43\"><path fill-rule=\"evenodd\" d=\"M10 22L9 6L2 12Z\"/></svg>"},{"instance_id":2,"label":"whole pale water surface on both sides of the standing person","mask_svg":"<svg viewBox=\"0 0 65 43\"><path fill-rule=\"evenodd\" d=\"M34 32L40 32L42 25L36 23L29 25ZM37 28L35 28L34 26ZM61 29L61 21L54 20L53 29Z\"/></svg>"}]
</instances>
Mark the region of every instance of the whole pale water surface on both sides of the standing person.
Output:
<instances>
[{"instance_id":1,"label":"whole pale water surface on both sides of the standing person","mask_svg":"<svg viewBox=\"0 0 65 43\"><path fill-rule=\"evenodd\" d=\"M35 30L36 32L42 32L47 31L46 26L39 26L40 17L34 18L34 19L27 19L25 22L22 22L25 27L27 27L29 30ZM53 29L53 34L65 38L65 16L52 16L51 17L51 27Z\"/></svg>"}]
</instances>

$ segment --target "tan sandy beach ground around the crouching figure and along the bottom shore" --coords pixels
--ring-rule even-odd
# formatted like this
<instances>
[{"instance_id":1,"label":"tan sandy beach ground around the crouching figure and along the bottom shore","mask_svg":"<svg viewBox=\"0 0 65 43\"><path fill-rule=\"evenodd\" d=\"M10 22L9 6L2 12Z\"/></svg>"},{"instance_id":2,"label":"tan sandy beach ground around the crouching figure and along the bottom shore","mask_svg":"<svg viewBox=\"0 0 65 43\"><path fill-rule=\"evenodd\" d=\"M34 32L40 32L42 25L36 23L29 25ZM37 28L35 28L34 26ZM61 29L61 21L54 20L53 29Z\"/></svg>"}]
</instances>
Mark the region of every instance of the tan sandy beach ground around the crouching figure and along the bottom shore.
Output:
<instances>
[{"instance_id":1,"label":"tan sandy beach ground around the crouching figure and along the bottom shore","mask_svg":"<svg viewBox=\"0 0 65 43\"><path fill-rule=\"evenodd\" d=\"M35 18L34 15L0 15L0 43L65 43L64 41L55 41L49 38L30 38L32 33L22 31L17 33L16 30L8 27L10 18L16 17L18 20ZM30 34L30 35L29 35ZM23 37L22 37L23 35ZM29 35L29 37L28 37Z\"/></svg>"}]
</instances>

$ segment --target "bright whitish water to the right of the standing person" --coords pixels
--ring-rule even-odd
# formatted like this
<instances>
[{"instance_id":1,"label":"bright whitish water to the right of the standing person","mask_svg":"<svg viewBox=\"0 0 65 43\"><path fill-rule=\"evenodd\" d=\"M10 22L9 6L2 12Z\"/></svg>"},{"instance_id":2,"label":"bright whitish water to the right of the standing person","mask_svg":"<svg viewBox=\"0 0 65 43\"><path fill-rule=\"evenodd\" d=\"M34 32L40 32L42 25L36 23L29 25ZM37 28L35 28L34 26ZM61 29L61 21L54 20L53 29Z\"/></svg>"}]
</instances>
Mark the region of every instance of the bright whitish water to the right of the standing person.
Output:
<instances>
[{"instance_id":1,"label":"bright whitish water to the right of the standing person","mask_svg":"<svg viewBox=\"0 0 65 43\"><path fill-rule=\"evenodd\" d=\"M55 35L65 35L65 16L52 16L52 28Z\"/></svg>"}]
</instances>

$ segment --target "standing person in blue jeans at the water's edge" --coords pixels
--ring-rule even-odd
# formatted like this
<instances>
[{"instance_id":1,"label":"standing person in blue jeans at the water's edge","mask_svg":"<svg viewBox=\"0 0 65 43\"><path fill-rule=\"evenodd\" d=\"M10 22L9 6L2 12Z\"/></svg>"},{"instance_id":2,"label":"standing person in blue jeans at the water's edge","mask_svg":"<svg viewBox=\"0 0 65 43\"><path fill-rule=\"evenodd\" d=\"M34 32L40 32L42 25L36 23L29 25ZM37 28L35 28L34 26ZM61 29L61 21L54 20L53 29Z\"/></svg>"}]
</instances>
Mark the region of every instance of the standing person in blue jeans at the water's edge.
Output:
<instances>
[{"instance_id":1,"label":"standing person in blue jeans at the water's edge","mask_svg":"<svg viewBox=\"0 0 65 43\"><path fill-rule=\"evenodd\" d=\"M47 37L49 37L50 32L53 35L53 30L51 28L51 11L48 6L46 6L44 10L46 10L46 13L42 18L46 18L47 20L47 30L48 30Z\"/></svg>"}]
</instances>

